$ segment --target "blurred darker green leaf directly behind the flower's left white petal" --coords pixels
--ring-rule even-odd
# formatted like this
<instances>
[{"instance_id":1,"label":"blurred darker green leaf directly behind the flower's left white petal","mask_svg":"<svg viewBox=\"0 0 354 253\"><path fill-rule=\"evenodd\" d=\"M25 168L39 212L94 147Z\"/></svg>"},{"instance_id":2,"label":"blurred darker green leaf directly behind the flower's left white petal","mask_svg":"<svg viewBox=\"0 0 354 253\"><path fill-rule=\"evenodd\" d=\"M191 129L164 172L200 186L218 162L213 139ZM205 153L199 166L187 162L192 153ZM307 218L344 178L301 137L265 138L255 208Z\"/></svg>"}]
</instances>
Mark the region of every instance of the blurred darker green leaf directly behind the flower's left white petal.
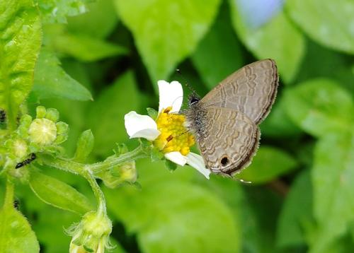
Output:
<instances>
[{"instance_id":1,"label":"blurred darker green leaf directly behind the flower's left white petal","mask_svg":"<svg viewBox=\"0 0 354 253\"><path fill-rule=\"evenodd\" d=\"M95 153L108 155L112 153L115 143L126 143L128 135L124 127L124 115L138 110L139 105L139 92L131 71L102 91L87 118L96 140Z\"/></svg>"}]
</instances>

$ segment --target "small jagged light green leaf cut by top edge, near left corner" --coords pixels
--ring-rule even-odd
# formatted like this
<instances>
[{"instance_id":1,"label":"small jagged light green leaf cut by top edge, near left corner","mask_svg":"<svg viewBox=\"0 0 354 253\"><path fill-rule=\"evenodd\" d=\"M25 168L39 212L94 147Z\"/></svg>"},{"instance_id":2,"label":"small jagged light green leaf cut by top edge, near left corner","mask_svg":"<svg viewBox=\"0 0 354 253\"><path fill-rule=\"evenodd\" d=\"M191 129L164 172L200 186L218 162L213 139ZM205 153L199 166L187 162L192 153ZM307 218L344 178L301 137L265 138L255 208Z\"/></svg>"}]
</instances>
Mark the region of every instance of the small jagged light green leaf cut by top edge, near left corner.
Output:
<instances>
[{"instance_id":1,"label":"small jagged light green leaf cut by top edge, near left corner","mask_svg":"<svg viewBox=\"0 0 354 253\"><path fill-rule=\"evenodd\" d=\"M67 23L67 16L85 13L91 0L34 0L45 23Z\"/></svg>"}]
</instances>

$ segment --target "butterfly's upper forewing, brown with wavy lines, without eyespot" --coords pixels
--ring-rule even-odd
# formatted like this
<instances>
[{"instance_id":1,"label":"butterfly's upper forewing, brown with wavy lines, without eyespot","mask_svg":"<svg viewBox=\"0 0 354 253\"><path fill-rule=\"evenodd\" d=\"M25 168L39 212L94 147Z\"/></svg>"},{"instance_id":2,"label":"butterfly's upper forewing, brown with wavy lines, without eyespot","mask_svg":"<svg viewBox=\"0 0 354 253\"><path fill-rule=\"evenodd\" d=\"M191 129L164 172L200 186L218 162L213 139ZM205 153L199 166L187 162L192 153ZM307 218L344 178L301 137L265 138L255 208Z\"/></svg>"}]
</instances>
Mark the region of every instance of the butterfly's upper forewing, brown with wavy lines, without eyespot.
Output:
<instances>
[{"instance_id":1,"label":"butterfly's upper forewing, brown with wavy lines, without eyespot","mask_svg":"<svg viewBox=\"0 0 354 253\"><path fill-rule=\"evenodd\" d=\"M205 106L227 107L246 114L259 124L269 113L278 88L275 61L264 59L232 73L207 93Z\"/></svg>"}]
</instances>

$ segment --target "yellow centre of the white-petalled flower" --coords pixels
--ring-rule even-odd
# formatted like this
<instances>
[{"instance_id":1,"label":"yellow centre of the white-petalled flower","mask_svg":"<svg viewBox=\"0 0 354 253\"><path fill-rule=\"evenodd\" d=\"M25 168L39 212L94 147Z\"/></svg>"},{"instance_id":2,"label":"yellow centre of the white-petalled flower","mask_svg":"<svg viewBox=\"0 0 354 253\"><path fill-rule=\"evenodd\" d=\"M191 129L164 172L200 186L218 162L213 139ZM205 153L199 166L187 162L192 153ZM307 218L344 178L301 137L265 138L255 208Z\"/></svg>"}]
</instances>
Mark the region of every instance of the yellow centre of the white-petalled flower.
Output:
<instances>
[{"instance_id":1,"label":"yellow centre of the white-petalled flower","mask_svg":"<svg viewBox=\"0 0 354 253\"><path fill-rule=\"evenodd\" d=\"M171 110L172 107L167 107L156 119L157 129L161 134L154 141L154 146L163 153L178 151L187 155L195 143L193 135L183 125L184 115L169 113Z\"/></svg>"}]
</instances>

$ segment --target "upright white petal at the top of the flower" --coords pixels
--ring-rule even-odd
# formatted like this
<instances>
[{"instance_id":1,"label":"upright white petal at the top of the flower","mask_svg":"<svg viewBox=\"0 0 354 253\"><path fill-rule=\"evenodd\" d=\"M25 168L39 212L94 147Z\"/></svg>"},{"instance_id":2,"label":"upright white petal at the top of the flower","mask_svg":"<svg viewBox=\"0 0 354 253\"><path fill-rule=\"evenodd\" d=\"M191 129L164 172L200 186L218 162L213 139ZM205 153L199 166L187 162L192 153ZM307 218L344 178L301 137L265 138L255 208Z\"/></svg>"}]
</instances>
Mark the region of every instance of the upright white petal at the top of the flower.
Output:
<instances>
[{"instance_id":1,"label":"upright white petal at the top of the flower","mask_svg":"<svg viewBox=\"0 0 354 253\"><path fill-rule=\"evenodd\" d=\"M159 86L159 113L167 107L172 107L171 112L179 112L183 102L183 88L181 83L173 81L168 83L164 80L157 82Z\"/></svg>"}]
</instances>

